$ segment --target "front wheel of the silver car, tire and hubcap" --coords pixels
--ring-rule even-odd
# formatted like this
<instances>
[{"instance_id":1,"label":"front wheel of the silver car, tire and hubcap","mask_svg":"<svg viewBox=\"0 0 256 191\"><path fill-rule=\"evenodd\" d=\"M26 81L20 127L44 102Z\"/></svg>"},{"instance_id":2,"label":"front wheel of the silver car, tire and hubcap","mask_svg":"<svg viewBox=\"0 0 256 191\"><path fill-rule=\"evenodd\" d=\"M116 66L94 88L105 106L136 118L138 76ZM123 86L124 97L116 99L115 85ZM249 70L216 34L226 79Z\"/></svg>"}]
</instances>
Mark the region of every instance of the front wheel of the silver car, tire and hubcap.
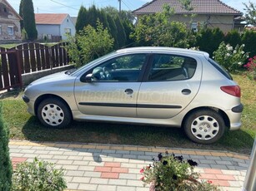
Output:
<instances>
[{"instance_id":1,"label":"front wheel of the silver car, tire and hubcap","mask_svg":"<svg viewBox=\"0 0 256 191\"><path fill-rule=\"evenodd\" d=\"M72 115L62 100L48 98L38 105L38 119L47 127L63 129L72 121Z\"/></svg>"}]
</instances>

